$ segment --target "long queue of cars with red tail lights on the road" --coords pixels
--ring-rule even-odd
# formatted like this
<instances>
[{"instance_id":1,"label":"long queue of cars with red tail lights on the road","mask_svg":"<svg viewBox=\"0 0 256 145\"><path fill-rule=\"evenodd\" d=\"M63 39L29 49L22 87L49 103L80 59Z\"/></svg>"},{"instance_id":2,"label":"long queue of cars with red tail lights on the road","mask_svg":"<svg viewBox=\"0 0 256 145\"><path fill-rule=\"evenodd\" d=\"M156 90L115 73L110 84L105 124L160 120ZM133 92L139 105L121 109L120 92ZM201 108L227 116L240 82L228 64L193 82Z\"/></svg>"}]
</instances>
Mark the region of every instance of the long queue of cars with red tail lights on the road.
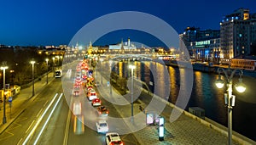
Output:
<instances>
[{"instance_id":1,"label":"long queue of cars with red tail lights on the road","mask_svg":"<svg viewBox=\"0 0 256 145\"><path fill-rule=\"evenodd\" d=\"M93 112L95 117L93 117L92 123L95 122L95 130L99 133L99 136L104 134L102 137L105 137L105 142L108 145L124 145L117 132L108 132L110 131L109 127L111 127L108 125L109 106L104 104L104 99L96 92L100 88L98 86L101 86L102 83L95 81L94 70L90 70L90 66L87 63L88 60L86 59L80 61L76 68L76 74L73 76L73 90L71 92L73 98L72 109L75 115L73 117L73 132L76 135L80 135L84 133L84 130L86 131L84 121L88 116L83 113L83 109L88 109L89 107L84 107L84 105L90 105L90 109L95 111Z\"/></svg>"}]
</instances>

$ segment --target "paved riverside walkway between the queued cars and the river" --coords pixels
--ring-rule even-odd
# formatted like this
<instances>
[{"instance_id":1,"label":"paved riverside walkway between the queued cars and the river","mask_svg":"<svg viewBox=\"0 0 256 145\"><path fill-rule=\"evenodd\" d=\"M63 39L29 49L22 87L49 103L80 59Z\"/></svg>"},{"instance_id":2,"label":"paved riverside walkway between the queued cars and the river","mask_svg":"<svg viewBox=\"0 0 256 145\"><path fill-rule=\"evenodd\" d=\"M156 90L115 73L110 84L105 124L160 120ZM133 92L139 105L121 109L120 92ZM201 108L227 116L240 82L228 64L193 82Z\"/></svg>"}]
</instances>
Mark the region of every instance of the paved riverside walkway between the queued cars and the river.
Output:
<instances>
[{"instance_id":1,"label":"paved riverside walkway between the queued cars and the river","mask_svg":"<svg viewBox=\"0 0 256 145\"><path fill-rule=\"evenodd\" d=\"M101 74L98 73L96 75L96 79L99 80L101 78ZM103 77L103 85L107 84L107 80ZM105 89L106 92L109 93L109 87L101 87ZM136 90L135 90L136 91ZM113 88L113 98L119 99L119 96L116 94L119 93L115 88ZM116 95L116 96L115 96ZM135 102L134 105L134 114L138 114L141 110L139 106L146 107L147 104L143 99L151 100L152 97L148 95L147 92L141 93L139 100ZM161 99L161 98L160 98ZM162 100L164 101L164 100ZM131 116L131 105L115 105L115 108L119 112L119 114L124 118L127 116ZM157 125L148 125L140 131L134 133L137 141L140 144L159 144L159 145L166 145L166 144L228 144L228 137L227 133L222 133L220 131L214 130L212 125L204 125L199 120L195 120L192 118L191 115L187 115L183 112L177 120L170 123L169 117L172 113L173 107L170 104L166 104L166 108L163 110L162 117L165 118L165 137L164 141L159 141L158 135L158 126ZM145 117L146 120L146 117ZM146 124L146 121L144 122ZM131 122L126 121L126 124L129 125ZM241 139L242 140L242 139ZM233 144L256 144L256 142L241 142L238 143L236 140L233 139Z\"/></svg>"}]
</instances>

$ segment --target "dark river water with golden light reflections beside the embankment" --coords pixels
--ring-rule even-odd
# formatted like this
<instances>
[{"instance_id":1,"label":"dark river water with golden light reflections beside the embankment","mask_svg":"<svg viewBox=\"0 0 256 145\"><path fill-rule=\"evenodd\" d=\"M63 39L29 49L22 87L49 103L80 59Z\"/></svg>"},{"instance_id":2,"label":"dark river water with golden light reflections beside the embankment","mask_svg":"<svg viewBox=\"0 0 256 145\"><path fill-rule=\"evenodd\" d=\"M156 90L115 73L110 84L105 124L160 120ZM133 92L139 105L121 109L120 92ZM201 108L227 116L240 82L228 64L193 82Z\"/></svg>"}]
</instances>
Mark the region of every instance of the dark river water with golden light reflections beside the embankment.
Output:
<instances>
[{"instance_id":1,"label":"dark river water with golden light reflections beside the embankment","mask_svg":"<svg viewBox=\"0 0 256 145\"><path fill-rule=\"evenodd\" d=\"M166 94L164 90L166 85L170 86L169 101L176 103L177 96L180 89L180 77L183 77L183 69L167 67L155 62L135 62L136 69L134 76L146 82L152 92L163 95ZM131 75L131 70L128 70L128 63L119 62L114 66L116 72L121 72L119 76L128 77ZM166 68L169 72L169 80L166 80L163 70ZM152 72L157 75L152 75ZM214 82L218 79L216 74L208 74L200 71L194 71L193 89L190 95L189 107L200 107L205 109L206 117L218 122L219 124L227 126L227 109L224 106L224 92L226 88L217 89ZM223 77L224 79L224 77ZM236 84L238 76L234 76L233 84ZM149 81L158 86L154 90L154 86L149 85ZM154 82L155 81L155 82ZM236 106L233 109L233 130L242 135L256 140L255 122L256 122L256 94L255 86L256 79L243 76L243 82L247 86L244 93L238 93L233 89L233 94L236 95Z\"/></svg>"}]
</instances>

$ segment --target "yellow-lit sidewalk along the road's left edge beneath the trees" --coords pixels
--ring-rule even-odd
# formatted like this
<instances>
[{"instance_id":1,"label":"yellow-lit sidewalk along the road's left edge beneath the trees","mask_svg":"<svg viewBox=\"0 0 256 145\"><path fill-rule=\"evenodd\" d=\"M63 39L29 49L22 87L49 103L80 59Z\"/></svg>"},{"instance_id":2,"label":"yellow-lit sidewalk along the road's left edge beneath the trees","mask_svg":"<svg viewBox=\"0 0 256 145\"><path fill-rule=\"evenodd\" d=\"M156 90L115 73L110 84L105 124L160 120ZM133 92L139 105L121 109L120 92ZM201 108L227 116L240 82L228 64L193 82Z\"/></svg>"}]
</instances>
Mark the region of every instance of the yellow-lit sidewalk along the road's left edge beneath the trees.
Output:
<instances>
[{"instance_id":1,"label":"yellow-lit sidewalk along the road's left edge beneath the trees","mask_svg":"<svg viewBox=\"0 0 256 145\"><path fill-rule=\"evenodd\" d=\"M54 80L53 74L48 74L48 84ZM8 100L5 103L5 114L7 123L3 124L3 103L1 103L0 110L0 134L5 131L9 125L11 125L15 119L17 119L20 114L26 109L26 105L30 100L33 100L37 97L38 93L44 90L46 85L46 75L34 83L35 95L32 97L32 86L20 90L20 94L15 96L12 101L12 106L10 108Z\"/></svg>"}]
</instances>

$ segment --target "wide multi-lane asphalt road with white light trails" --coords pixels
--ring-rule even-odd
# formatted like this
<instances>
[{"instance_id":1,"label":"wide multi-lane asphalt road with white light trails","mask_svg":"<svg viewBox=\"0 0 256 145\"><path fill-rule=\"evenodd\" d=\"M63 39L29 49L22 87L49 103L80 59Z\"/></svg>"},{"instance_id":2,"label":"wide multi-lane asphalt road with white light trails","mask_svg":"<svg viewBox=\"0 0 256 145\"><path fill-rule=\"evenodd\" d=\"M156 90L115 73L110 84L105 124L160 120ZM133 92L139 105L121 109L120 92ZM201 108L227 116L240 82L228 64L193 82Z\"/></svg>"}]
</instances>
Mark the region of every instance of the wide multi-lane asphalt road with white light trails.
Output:
<instances>
[{"instance_id":1,"label":"wide multi-lane asphalt road with white light trails","mask_svg":"<svg viewBox=\"0 0 256 145\"><path fill-rule=\"evenodd\" d=\"M84 125L84 133L74 133L75 115L70 103L74 97L72 91L69 97L62 92L61 79L56 78L35 98L20 106L25 111L0 135L1 144L106 144L105 134L97 133L96 125L95 128ZM90 105L85 96L79 98L83 98L82 105ZM102 104L108 108L109 116L120 117L112 103L102 99ZM91 114L96 114L96 109L91 111ZM84 118L86 117L88 116L85 114ZM89 120L96 121L98 118ZM125 122L121 123L125 125ZM108 124L109 131L120 131L111 123ZM122 135L121 138L125 145L138 144L133 134Z\"/></svg>"}]
</instances>

